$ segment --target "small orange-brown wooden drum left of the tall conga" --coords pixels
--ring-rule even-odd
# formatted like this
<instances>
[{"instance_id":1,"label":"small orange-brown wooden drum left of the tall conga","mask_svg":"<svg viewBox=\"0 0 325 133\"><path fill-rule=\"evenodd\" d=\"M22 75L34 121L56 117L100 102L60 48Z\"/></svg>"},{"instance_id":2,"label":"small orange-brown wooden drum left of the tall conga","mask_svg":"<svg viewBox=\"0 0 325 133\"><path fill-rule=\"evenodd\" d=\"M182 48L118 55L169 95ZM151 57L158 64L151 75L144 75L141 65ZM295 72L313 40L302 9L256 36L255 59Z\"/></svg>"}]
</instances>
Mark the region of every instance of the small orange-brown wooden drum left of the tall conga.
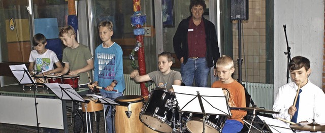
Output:
<instances>
[{"instance_id":1,"label":"small orange-brown wooden drum left of the tall conga","mask_svg":"<svg viewBox=\"0 0 325 133\"><path fill-rule=\"evenodd\" d=\"M86 97L86 96L83 96L82 98L85 99L85 100L90 101L88 104L86 104L86 103L81 104L82 112L86 112L86 106L85 105L87 105L87 112L95 112L95 111L103 110L103 104L96 103L98 101L97 99L89 98L89 97Z\"/></svg>"}]
</instances>

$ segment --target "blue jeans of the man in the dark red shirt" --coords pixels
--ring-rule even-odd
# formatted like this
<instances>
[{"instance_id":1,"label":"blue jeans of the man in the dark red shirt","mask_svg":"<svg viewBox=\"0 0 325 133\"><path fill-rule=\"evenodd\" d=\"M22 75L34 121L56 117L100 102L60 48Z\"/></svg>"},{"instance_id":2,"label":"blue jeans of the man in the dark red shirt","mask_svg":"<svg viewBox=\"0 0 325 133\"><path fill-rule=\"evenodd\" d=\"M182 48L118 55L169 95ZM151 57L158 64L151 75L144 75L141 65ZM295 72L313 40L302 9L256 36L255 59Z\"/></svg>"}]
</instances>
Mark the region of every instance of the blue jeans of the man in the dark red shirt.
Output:
<instances>
[{"instance_id":1,"label":"blue jeans of the man in the dark red shirt","mask_svg":"<svg viewBox=\"0 0 325 133\"><path fill-rule=\"evenodd\" d=\"M181 75L185 86L192 86L193 79L198 87L208 87L208 68L206 58L192 59L188 58L187 62L181 63Z\"/></svg>"}]
</instances>

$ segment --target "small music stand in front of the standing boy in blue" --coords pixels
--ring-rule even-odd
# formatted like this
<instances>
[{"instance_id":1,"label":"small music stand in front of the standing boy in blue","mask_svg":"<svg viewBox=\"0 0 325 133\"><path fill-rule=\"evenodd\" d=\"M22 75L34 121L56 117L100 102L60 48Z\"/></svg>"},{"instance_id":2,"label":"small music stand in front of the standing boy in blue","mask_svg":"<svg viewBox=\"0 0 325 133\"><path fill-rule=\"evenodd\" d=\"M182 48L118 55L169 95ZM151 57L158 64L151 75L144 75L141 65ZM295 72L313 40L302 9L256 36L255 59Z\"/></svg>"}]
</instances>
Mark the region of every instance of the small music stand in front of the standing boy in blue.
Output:
<instances>
[{"instance_id":1,"label":"small music stand in front of the standing boy in blue","mask_svg":"<svg viewBox=\"0 0 325 133\"><path fill-rule=\"evenodd\" d=\"M105 111L105 104L111 105L111 106L120 105L120 104L116 103L115 101L113 101L110 98L103 97L101 95L95 95L95 94L87 94L87 95L92 96L94 99L97 98L98 101L96 103L102 103L103 104L104 118L105 118L105 120L104 120L104 126L105 126L105 133L106 133L107 130L106 130L106 111ZM108 106L108 108L109 108L109 106ZM113 118L112 118L112 121L113 121ZM112 122L112 127L113 127L113 122ZM112 129L114 130L114 127Z\"/></svg>"}]
</instances>

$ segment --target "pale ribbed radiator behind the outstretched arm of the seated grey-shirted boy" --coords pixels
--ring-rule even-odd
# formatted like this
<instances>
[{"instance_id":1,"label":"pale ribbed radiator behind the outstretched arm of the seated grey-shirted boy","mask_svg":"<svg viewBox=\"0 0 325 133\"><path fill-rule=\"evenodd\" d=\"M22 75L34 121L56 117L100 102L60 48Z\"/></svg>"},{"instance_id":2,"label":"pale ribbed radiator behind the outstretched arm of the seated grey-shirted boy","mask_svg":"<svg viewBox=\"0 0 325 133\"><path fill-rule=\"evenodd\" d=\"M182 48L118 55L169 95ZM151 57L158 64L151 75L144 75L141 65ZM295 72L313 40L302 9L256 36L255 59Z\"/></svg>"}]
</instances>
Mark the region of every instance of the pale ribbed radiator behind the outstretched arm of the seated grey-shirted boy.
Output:
<instances>
[{"instance_id":1,"label":"pale ribbed radiator behind the outstretched arm of the seated grey-shirted boy","mask_svg":"<svg viewBox=\"0 0 325 133\"><path fill-rule=\"evenodd\" d=\"M134 81L130 78L129 74L124 74L124 80L125 80L125 90L124 95L141 95L141 87L140 83ZM149 92L151 92L151 89L155 88L156 86L154 83L148 87Z\"/></svg>"}]
</instances>

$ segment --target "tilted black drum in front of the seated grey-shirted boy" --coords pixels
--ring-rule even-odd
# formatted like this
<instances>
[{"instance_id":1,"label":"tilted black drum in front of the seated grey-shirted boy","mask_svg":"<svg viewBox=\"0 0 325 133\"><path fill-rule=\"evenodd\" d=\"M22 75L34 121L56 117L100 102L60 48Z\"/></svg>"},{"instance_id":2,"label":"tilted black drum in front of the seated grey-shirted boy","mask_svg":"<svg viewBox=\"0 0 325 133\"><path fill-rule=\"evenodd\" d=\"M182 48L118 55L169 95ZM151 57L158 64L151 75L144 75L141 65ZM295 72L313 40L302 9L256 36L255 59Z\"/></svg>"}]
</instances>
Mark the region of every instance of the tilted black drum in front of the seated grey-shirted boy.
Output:
<instances>
[{"instance_id":1,"label":"tilted black drum in front of the seated grey-shirted boy","mask_svg":"<svg viewBox=\"0 0 325 133\"><path fill-rule=\"evenodd\" d=\"M172 132L175 122L179 123L178 110L174 110L175 93L164 88L152 89L148 103L140 113L140 120L153 130ZM177 126L177 124L176 124Z\"/></svg>"}]
</instances>

